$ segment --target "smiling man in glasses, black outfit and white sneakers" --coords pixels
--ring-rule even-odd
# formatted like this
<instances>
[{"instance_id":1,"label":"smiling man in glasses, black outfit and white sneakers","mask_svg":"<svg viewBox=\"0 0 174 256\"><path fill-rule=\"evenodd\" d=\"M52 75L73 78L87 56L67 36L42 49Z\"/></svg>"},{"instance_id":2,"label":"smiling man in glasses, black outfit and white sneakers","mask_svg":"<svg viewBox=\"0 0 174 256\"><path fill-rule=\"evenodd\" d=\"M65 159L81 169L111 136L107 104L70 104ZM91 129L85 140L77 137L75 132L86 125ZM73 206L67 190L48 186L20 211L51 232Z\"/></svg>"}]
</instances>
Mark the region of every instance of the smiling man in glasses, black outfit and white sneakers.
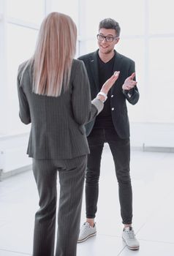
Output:
<instances>
[{"instance_id":1,"label":"smiling man in glasses, black outfit and white sneakers","mask_svg":"<svg viewBox=\"0 0 174 256\"><path fill-rule=\"evenodd\" d=\"M106 18L99 23L97 34L99 49L80 56L86 66L94 99L105 80L119 70L116 84L107 94L101 113L86 125L90 154L86 171L86 222L80 229L78 242L96 235L94 218L97 213L99 173L104 143L108 143L116 167L121 218L124 224L122 237L129 249L139 249L132 228L132 185L129 176L130 143L129 118L126 100L135 105L139 99L135 81L135 62L114 50L119 41L120 26L116 20Z\"/></svg>"}]
</instances>

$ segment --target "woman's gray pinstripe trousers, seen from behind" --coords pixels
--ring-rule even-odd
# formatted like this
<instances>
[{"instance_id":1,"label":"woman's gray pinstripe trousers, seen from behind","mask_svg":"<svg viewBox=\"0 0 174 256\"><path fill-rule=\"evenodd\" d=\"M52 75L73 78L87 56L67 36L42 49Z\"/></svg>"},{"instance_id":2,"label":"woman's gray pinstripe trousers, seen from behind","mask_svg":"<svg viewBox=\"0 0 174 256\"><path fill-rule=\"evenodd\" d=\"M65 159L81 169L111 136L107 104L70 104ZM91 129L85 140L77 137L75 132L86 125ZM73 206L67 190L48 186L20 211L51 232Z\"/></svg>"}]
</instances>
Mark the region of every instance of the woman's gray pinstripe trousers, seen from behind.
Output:
<instances>
[{"instance_id":1,"label":"woman's gray pinstripe trousers, seen from behind","mask_svg":"<svg viewBox=\"0 0 174 256\"><path fill-rule=\"evenodd\" d=\"M75 159L33 159L40 206L35 215L33 256L54 255L57 173L60 197L56 256L76 255L85 171L86 156Z\"/></svg>"}]
</instances>

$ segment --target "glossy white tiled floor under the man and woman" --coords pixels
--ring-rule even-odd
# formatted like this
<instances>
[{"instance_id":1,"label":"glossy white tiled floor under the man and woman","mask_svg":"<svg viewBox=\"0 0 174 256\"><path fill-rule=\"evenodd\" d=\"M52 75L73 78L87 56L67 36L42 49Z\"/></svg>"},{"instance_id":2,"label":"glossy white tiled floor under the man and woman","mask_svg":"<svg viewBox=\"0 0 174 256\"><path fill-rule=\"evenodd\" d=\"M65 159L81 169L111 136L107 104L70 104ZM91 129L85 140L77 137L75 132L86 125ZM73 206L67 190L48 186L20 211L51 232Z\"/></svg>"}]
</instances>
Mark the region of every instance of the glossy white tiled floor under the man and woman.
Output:
<instances>
[{"instance_id":1,"label":"glossy white tiled floor under the man and woman","mask_svg":"<svg viewBox=\"0 0 174 256\"><path fill-rule=\"evenodd\" d=\"M99 183L97 236L77 244L77 256L174 256L174 154L133 151L133 227L140 250L121 239L118 184L105 146ZM0 255L31 255L34 212L38 206L32 172L0 182ZM81 223L85 220L85 201Z\"/></svg>"}]
</instances>

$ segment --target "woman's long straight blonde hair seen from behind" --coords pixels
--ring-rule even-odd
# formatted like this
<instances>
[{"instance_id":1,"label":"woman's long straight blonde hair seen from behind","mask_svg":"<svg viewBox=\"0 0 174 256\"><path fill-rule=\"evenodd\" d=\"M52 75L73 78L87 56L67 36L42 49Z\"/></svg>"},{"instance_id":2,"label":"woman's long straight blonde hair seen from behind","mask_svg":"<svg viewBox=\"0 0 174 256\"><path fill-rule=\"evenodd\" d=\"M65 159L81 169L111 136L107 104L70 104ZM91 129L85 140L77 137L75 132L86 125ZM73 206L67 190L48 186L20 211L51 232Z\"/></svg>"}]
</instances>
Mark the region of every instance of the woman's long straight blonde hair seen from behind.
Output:
<instances>
[{"instance_id":1,"label":"woman's long straight blonde hair seen from behind","mask_svg":"<svg viewBox=\"0 0 174 256\"><path fill-rule=\"evenodd\" d=\"M42 21L33 58L35 94L58 97L69 88L76 41L77 28L68 15L51 12Z\"/></svg>"}]
</instances>

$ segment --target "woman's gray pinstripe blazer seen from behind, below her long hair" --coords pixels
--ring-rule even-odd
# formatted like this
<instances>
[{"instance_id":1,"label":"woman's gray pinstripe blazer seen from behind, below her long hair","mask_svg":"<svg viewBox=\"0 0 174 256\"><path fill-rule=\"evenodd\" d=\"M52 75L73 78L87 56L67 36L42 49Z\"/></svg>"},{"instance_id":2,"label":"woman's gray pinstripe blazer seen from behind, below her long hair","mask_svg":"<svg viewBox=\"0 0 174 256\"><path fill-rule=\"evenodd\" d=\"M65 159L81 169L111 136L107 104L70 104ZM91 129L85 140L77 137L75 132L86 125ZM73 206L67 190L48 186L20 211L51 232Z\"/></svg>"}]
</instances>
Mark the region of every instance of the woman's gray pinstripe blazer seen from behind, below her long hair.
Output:
<instances>
[{"instance_id":1,"label":"woman's gray pinstripe blazer seen from behind, below her long hair","mask_svg":"<svg viewBox=\"0 0 174 256\"><path fill-rule=\"evenodd\" d=\"M34 94L32 64L18 69L19 116L31 123L27 154L35 159L71 159L89 153L84 124L103 108L91 104L88 75L83 61L72 61L69 89L59 97Z\"/></svg>"}]
</instances>

